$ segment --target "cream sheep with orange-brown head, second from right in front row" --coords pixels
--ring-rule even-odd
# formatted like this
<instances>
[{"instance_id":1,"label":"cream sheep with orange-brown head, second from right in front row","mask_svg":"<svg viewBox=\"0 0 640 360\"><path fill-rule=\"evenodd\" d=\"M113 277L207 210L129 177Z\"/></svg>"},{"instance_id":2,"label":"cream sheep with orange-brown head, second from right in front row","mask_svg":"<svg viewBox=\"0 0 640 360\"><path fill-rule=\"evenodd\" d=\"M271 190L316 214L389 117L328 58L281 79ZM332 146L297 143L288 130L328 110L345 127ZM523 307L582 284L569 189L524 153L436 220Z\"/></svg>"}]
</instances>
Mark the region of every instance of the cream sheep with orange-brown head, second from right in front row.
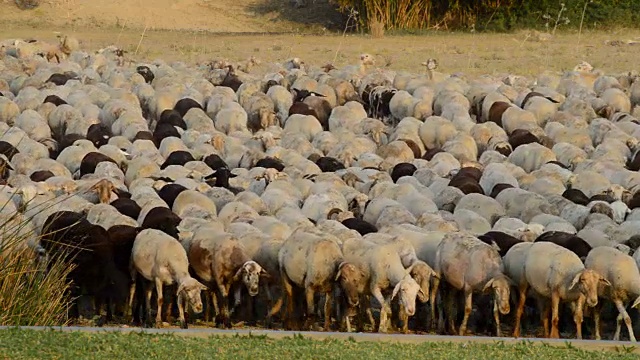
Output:
<instances>
[{"instance_id":1,"label":"cream sheep with orange-brown head, second from right in front row","mask_svg":"<svg viewBox=\"0 0 640 360\"><path fill-rule=\"evenodd\" d=\"M598 285L611 285L600 273L586 269L576 254L549 242L534 243L527 250L524 277L538 297L544 336L559 338L558 307L560 301L575 302L573 320L577 338L582 338L582 314L586 303L598 304ZM521 288L520 294L523 294ZM547 299L550 299L547 300ZM524 299L520 298L520 307ZM551 331L549 332L549 311Z\"/></svg>"}]
</instances>

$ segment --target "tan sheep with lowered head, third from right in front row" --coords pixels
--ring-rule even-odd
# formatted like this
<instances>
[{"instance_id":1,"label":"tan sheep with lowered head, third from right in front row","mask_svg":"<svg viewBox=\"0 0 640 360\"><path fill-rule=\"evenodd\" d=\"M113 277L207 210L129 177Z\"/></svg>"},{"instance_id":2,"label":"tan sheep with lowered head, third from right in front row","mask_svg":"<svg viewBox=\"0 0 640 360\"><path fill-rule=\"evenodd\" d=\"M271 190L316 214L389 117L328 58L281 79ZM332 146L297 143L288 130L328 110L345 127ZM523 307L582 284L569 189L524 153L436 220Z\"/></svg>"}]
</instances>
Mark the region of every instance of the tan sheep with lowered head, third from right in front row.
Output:
<instances>
[{"instance_id":1,"label":"tan sheep with lowered head, third from right in front row","mask_svg":"<svg viewBox=\"0 0 640 360\"><path fill-rule=\"evenodd\" d=\"M464 292L465 308L459 328L460 335L464 335L467 329L473 293L491 290L494 296L496 332L497 336L501 336L500 314L506 315L510 311L509 293L512 281L504 274L502 259L494 248L466 233L447 234L438 245L434 270L438 277L445 279L454 289ZM439 286L438 277L434 280L434 292ZM447 303L451 304L451 301ZM453 324L451 327L454 328Z\"/></svg>"}]
</instances>

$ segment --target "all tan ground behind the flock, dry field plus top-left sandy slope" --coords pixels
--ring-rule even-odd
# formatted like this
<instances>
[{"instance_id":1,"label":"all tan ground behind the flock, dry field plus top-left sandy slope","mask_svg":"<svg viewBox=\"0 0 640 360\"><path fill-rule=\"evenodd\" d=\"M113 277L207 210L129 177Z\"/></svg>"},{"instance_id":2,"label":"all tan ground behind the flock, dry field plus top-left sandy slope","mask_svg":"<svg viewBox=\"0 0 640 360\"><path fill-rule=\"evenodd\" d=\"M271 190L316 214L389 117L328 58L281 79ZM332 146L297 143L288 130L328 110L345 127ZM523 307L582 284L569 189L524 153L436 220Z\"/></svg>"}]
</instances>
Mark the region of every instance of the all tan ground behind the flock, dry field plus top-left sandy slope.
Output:
<instances>
[{"instance_id":1,"label":"all tan ground behind the flock, dry field plus top-left sandy slope","mask_svg":"<svg viewBox=\"0 0 640 360\"><path fill-rule=\"evenodd\" d=\"M322 30L336 16L327 10L327 0L316 2L313 11L305 12L286 0L43 0L38 9L21 11L13 0L0 0L0 39L54 41L53 32L63 31L79 38L85 49L114 44L139 61L256 56L266 64L299 56L315 65L345 65L368 52L380 66L414 72L423 71L419 64L429 57L438 60L440 71L468 75L532 75L573 68L583 60L609 73L638 68L640 45L605 45L606 40L639 40L638 30L562 33L543 42L525 32L344 37Z\"/></svg>"}]
</instances>

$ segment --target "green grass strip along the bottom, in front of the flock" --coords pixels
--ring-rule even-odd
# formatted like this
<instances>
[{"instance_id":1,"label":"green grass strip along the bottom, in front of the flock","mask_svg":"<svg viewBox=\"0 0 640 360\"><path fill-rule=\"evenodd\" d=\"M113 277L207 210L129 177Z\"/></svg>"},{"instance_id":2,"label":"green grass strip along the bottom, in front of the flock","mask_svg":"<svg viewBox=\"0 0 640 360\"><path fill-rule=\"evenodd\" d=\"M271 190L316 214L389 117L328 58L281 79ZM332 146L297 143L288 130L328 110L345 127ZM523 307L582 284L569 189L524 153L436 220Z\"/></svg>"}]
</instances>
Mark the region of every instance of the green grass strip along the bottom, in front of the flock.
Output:
<instances>
[{"instance_id":1,"label":"green grass strip along the bottom, in front of the flock","mask_svg":"<svg viewBox=\"0 0 640 360\"><path fill-rule=\"evenodd\" d=\"M186 338L174 335L72 333L6 330L0 332L0 359L637 359L618 352L583 351L570 345L553 347L433 342L317 341L302 337Z\"/></svg>"}]
</instances>

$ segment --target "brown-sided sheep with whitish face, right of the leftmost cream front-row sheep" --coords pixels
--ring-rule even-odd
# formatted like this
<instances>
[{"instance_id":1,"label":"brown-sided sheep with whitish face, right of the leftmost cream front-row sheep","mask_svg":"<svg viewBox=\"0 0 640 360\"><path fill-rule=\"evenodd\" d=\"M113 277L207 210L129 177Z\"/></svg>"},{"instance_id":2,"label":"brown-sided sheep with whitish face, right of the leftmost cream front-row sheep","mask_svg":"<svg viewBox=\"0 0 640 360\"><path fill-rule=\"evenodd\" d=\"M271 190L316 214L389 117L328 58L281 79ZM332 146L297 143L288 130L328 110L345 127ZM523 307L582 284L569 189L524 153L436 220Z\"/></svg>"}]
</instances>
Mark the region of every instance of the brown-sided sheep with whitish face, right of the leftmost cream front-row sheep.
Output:
<instances>
[{"instance_id":1,"label":"brown-sided sheep with whitish face, right of the leftmost cream front-row sheep","mask_svg":"<svg viewBox=\"0 0 640 360\"><path fill-rule=\"evenodd\" d=\"M249 295L256 296L259 278L265 276L266 271L247 256L237 238L225 233L212 234L209 228L195 231L187 254L189 264L198 277L205 283L212 284L210 288L217 290L216 293L220 295L219 305L216 303L216 296L213 296L212 305L216 312L221 308L222 323L230 328L228 296L232 285L242 281ZM240 289L236 287L234 308L241 300Z\"/></svg>"}]
</instances>

